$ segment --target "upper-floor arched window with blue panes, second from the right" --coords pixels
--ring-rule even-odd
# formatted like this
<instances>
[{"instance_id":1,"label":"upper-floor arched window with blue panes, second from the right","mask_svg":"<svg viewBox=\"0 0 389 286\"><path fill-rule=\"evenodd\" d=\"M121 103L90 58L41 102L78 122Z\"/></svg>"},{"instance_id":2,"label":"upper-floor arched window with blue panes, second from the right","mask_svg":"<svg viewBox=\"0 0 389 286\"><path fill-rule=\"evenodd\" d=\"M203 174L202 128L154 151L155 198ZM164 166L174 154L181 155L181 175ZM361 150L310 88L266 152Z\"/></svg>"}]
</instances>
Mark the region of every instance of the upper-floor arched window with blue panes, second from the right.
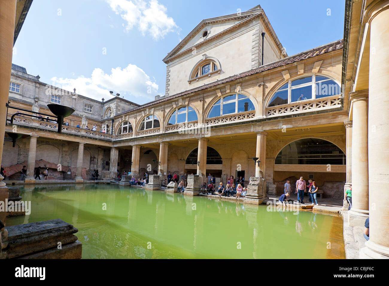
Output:
<instances>
[{"instance_id":1,"label":"upper-floor arched window with blue panes, second from the right","mask_svg":"<svg viewBox=\"0 0 389 286\"><path fill-rule=\"evenodd\" d=\"M251 100L242 94L227 95L219 99L211 108L207 118L226 114L255 110Z\"/></svg>"}]
</instances>

